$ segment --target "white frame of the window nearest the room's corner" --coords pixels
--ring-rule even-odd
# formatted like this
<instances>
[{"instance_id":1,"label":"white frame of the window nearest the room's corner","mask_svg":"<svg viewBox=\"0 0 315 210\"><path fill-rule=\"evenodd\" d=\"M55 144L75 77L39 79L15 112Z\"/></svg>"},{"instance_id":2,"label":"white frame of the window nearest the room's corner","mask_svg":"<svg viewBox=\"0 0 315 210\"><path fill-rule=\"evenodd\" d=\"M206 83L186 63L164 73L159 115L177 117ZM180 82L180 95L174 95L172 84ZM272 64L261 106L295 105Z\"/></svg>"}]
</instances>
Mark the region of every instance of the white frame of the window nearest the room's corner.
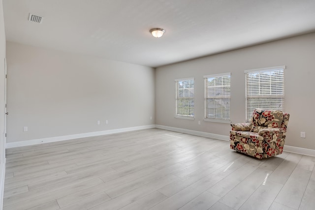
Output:
<instances>
[{"instance_id":1,"label":"white frame of the window nearest the room's corner","mask_svg":"<svg viewBox=\"0 0 315 210\"><path fill-rule=\"evenodd\" d=\"M184 81L190 81L192 82L192 96L191 97L178 97L179 95L179 90L178 90L178 83L179 82L184 82ZM195 81L194 81L194 78L191 77L191 78L183 78L183 79L175 79L175 118L178 118L178 119L186 119L186 120L194 120L194 114L195 114L195 110L194 110L194 85L195 85ZM190 94L190 93L189 93ZM179 114L179 106L178 106L178 99L179 98L187 98L191 100L191 102L193 103L193 106L192 106L192 113L193 115L181 115ZM190 110L191 111L191 110Z\"/></svg>"}]
</instances>

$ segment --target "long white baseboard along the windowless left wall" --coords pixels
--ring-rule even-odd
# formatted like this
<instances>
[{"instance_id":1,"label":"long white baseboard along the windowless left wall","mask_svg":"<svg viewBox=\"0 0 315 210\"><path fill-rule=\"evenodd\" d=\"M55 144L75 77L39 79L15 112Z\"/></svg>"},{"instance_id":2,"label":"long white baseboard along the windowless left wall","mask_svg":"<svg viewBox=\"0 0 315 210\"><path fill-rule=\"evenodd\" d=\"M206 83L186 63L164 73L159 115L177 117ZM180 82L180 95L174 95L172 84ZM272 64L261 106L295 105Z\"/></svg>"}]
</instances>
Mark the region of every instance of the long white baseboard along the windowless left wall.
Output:
<instances>
[{"instance_id":1,"label":"long white baseboard along the windowless left wall","mask_svg":"<svg viewBox=\"0 0 315 210\"><path fill-rule=\"evenodd\" d=\"M101 136L101 135L108 135L114 133L122 133L127 131L134 131L134 130L142 130L148 128L155 128L155 125L143 125L143 126L136 126L136 127L126 127L126 128L119 128L113 130L102 130L102 131L95 131L90 133L80 133L80 134L72 134L66 136L56 136L56 137L49 137L43 139L32 139L27 141L20 141L20 142L9 142L6 143L6 148L16 148L16 147L23 147L23 146L30 146L30 145L38 145L43 143L50 143L50 142L60 142L64 140L70 139L79 139L85 137L92 137L92 136Z\"/></svg>"}]
</instances>

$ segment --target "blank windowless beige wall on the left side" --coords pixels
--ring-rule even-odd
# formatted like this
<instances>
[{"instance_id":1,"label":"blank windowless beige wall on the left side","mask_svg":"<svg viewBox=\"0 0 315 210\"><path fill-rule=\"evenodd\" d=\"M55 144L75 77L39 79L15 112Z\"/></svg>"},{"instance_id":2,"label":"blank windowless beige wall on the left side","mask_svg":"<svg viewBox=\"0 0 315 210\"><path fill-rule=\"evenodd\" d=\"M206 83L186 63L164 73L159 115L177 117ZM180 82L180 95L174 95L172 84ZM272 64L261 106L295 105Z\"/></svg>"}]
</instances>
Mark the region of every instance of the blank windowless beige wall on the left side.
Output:
<instances>
[{"instance_id":1,"label":"blank windowless beige wall on the left side","mask_svg":"<svg viewBox=\"0 0 315 210\"><path fill-rule=\"evenodd\" d=\"M6 49L7 142L154 124L153 68L12 42Z\"/></svg>"}]
</instances>

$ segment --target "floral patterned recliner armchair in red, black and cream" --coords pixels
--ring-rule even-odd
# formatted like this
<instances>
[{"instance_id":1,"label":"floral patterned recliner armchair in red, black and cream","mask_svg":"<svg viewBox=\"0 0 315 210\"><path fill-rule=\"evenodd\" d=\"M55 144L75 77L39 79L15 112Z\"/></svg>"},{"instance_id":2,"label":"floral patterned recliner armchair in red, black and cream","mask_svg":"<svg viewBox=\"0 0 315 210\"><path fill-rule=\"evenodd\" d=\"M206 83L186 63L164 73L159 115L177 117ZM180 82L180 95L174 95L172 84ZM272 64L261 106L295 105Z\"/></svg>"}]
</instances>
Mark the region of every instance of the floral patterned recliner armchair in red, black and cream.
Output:
<instances>
[{"instance_id":1,"label":"floral patterned recliner armchair in red, black and cream","mask_svg":"<svg viewBox=\"0 0 315 210\"><path fill-rule=\"evenodd\" d=\"M231 124L230 148L256 158L281 154L289 114L255 109L251 123Z\"/></svg>"}]
</instances>

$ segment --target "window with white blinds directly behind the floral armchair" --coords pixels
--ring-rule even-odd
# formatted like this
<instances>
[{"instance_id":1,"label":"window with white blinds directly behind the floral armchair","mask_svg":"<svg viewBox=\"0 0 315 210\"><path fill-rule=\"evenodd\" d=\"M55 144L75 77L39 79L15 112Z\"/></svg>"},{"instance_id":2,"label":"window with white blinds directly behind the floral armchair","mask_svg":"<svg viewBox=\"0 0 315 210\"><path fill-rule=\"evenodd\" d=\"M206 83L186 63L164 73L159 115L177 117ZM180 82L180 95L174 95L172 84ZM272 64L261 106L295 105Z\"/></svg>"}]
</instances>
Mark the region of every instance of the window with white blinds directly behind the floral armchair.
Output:
<instances>
[{"instance_id":1,"label":"window with white blinds directly behind the floral armchair","mask_svg":"<svg viewBox=\"0 0 315 210\"><path fill-rule=\"evenodd\" d=\"M256 108L284 110L284 68L255 69L246 75L246 120Z\"/></svg>"}]
</instances>

